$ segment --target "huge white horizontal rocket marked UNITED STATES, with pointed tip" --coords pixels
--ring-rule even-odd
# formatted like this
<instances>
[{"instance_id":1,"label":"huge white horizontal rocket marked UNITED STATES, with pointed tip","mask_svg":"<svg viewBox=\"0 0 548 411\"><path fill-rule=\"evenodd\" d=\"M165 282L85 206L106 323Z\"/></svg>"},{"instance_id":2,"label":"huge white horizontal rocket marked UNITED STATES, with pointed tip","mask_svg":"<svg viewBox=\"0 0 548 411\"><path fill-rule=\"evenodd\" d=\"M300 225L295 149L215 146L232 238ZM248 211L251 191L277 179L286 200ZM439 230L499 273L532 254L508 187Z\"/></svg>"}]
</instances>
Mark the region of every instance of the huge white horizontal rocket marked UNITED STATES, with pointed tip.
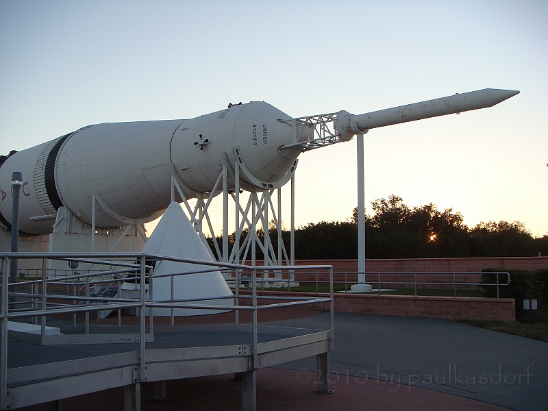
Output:
<instances>
[{"instance_id":1,"label":"huge white horizontal rocket marked UNITED STATES, with pointed tip","mask_svg":"<svg viewBox=\"0 0 548 411\"><path fill-rule=\"evenodd\" d=\"M492 107L518 93L487 88L365 114L343 110L332 115L335 142L377 127ZM152 221L170 204L172 176L187 199L199 197L212 191L223 168L234 188L235 162L246 171L240 188L272 188L315 138L312 127L291 120L268 103L251 101L195 119L88 125L12 151L0 158L0 227L11 229L14 171L23 173L19 227L27 234L52 232L62 206L91 224L94 193L121 216ZM121 225L101 208L95 218L96 227Z\"/></svg>"}]
</instances>

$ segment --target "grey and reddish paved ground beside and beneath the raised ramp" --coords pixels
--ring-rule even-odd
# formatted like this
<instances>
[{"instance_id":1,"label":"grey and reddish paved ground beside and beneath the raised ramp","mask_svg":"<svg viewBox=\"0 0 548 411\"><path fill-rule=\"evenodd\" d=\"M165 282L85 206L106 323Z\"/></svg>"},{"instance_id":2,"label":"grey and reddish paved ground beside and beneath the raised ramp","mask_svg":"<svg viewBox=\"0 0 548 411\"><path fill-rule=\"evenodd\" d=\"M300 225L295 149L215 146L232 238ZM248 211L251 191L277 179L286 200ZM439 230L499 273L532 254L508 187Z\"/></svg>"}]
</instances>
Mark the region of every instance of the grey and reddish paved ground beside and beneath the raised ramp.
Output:
<instances>
[{"instance_id":1,"label":"grey and reddish paved ground beside and beneath the raised ramp","mask_svg":"<svg viewBox=\"0 0 548 411\"><path fill-rule=\"evenodd\" d=\"M328 328L329 314L271 324ZM548 410L548 343L438 319L335 314L335 324L335 393L313 392L316 362L306 358L258 371L258 410ZM142 410L240 410L230 377L167 382L166 402L143 384ZM120 409L119 388L64 401L65 411Z\"/></svg>"}]
</instances>

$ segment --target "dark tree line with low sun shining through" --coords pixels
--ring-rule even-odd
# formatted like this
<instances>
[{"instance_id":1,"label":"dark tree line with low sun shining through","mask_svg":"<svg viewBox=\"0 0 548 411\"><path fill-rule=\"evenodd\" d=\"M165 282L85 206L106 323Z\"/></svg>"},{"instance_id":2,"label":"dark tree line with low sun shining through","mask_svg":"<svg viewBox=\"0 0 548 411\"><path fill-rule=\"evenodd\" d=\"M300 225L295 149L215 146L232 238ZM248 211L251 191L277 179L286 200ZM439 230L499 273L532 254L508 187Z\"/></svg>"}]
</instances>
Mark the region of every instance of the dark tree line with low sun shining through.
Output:
<instances>
[{"instance_id":1,"label":"dark tree line with low sun shining through","mask_svg":"<svg viewBox=\"0 0 548 411\"><path fill-rule=\"evenodd\" d=\"M365 215L366 258L458 258L548 256L548 235L534 237L519 221L488 221L474 227L464 224L460 212L443 211L429 203L410 207L397 195L373 201L373 215ZM247 232L242 234L243 244ZM264 239L264 231L257 231ZM269 224L269 237L277 250L277 229ZM229 236L229 249L235 236ZM282 229L289 253L290 232ZM210 245L212 239L208 238ZM222 238L216 238L221 247ZM213 247L212 247L213 249ZM215 252L215 251L214 251ZM263 259L256 247L257 260ZM321 221L295 229L297 260L358 258L358 210L347 221Z\"/></svg>"}]
</instances>

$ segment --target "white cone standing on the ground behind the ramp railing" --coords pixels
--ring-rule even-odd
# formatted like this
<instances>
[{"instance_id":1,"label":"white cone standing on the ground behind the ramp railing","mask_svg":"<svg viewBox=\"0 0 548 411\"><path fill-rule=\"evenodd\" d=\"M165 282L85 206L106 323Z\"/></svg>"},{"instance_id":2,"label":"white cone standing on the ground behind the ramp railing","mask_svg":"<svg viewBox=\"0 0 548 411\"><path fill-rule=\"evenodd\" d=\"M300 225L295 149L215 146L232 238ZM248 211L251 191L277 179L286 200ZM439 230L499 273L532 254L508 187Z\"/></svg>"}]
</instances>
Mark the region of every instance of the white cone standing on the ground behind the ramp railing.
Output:
<instances>
[{"instance_id":1,"label":"white cone standing on the ground behind the ramp railing","mask_svg":"<svg viewBox=\"0 0 548 411\"><path fill-rule=\"evenodd\" d=\"M181 206L171 203L164 216L155 227L143 253L158 254L160 256L192 258L194 260L206 260L214 262L210 252L206 249L197 232L188 221ZM153 301L171 301L171 278L159 275L171 273L188 273L212 269L212 266L199 264L184 264L182 262L160 261L157 262L153 272ZM228 287L223 275L219 271L210 273L177 275L173 278L173 299L199 299L211 297L232 297L232 291ZM217 304L223 306L234 305L234 299L219 299L197 301L201 304ZM170 308L154 308L154 315L170 316ZM203 314L216 314L221 310L191 310L178 308L176 316L190 316Z\"/></svg>"}]
</instances>

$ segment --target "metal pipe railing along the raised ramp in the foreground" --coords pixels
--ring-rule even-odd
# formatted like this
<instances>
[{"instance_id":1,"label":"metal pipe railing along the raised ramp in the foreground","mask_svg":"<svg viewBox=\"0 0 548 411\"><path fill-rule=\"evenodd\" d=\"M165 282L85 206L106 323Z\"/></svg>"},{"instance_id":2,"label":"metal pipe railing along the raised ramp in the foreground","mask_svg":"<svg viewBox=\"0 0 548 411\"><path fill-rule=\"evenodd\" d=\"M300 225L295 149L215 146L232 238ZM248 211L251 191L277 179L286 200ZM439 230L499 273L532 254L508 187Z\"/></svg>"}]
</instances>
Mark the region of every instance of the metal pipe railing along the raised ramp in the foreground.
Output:
<instances>
[{"instance_id":1,"label":"metal pipe railing along the raised ramp in the foreground","mask_svg":"<svg viewBox=\"0 0 548 411\"><path fill-rule=\"evenodd\" d=\"M42 275L40 279L17 282L8 284L8 267L10 266L10 258L21 259L41 259L42 260ZM330 340L331 347L334 347L334 299L333 299L333 268L332 266L244 266L240 264L225 264L219 262L208 262L201 260L191 260L186 258L173 258L169 256L158 256L149 253L0 253L2 260L1 273L1 309L0 309L0 409L5 409L6 406L6 382L8 375L8 321L20 319L34 319L34 323L40 319L40 334L44 338L46 334L46 317L58 316L62 314L84 313L85 333L90 332L89 314L90 312L99 312L103 310L119 310L119 325L121 325L120 310L125 308L138 309L139 316L139 379L145 380L146 367L146 317L149 317L149 334L153 334L153 309L154 308L169 308L171 309L171 323L174 321L174 310L190 309L190 310L224 310L234 311L235 322L239 323L240 311L252 312L253 323L253 367L258 367L258 310L269 308L279 308L288 306L300 306L305 304L326 303L329 302L330 311ZM64 277L48 278L48 262L49 260L73 260L84 262L86 264L104 264L111 266L110 270L102 271L101 273L83 273L77 275L66 275ZM163 260L172 262L182 262L186 264L195 264L204 266L201 271L192 271L185 273L170 273L164 275L171 277L171 300L154 301L153 299L153 278L160 278L162 275L153 277L153 267L150 264L153 260ZM114 269L112 269L114 267ZM121 267L121 268L118 268ZM328 275L329 279L329 297L264 297L258 296L258 272L276 270L279 273L287 272L295 273L300 270L322 271L323 275ZM173 279L179 275L209 273L211 271L227 271L234 273L233 281L235 284L234 295L227 297L213 297L209 299L174 299ZM240 295L240 282L242 273L251 273L251 296ZM100 274L100 277L99 277ZM264 278L264 274L261 276ZM260 278L260 277L259 277ZM101 297L94 296L90 293L90 286L95 284L116 284L120 290L121 282L133 280L135 288L139 290L139 297L132 299L120 298L120 294L116 297ZM149 294L147 296L147 280L149 286ZM78 285L84 284L85 295L76 295L75 288ZM54 286L73 286L73 295L59 295L48 293L48 287ZM17 288L29 287L30 292L17 292ZM41 288L41 289L40 289ZM39 292L40 291L40 292ZM80 293L79 293L80 294ZM18 301L16 301L16 299ZM211 304L208 300L233 300L233 304L219 303ZM241 305L240 299L251 300L250 305ZM260 304L260 299L268 299L265 304ZM271 302L280 301L280 302ZM58 301L58 302L54 302ZM67 302L69 301L69 302ZM241 302L242 302L241 301ZM24 306L24 307L23 307Z\"/></svg>"}]
</instances>

